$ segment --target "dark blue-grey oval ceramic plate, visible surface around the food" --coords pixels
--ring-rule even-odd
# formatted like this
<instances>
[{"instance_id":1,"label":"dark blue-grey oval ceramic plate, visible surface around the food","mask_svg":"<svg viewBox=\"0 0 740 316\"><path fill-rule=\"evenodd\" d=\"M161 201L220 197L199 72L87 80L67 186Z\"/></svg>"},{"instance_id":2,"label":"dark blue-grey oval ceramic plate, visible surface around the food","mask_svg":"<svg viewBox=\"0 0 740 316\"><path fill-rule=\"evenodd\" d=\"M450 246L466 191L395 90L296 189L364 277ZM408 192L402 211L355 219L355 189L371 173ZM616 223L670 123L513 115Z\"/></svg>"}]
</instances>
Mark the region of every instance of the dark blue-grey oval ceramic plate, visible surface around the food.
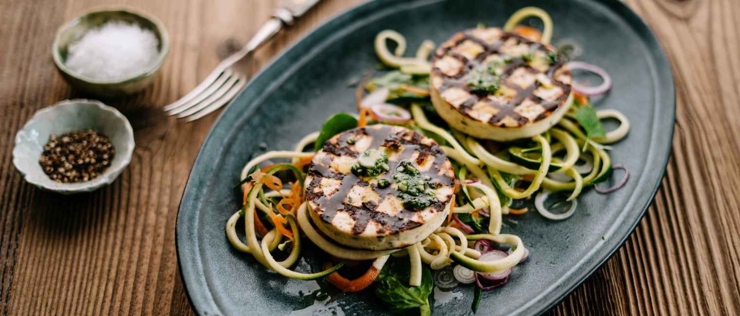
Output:
<instances>
[{"instance_id":1,"label":"dark blue-grey oval ceramic plate, visible surface around the food","mask_svg":"<svg viewBox=\"0 0 740 316\"><path fill-rule=\"evenodd\" d=\"M182 278L201 315L391 315L371 290L342 295L323 280L298 281L268 272L226 240L226 219L240 207L232 190L255 154L286 150L317 131L326 117L354 111L355 83L371 69L372 42L380 30L406 35L415 50L424 39L443 42L478 21L501 26L524 5L542 7L555 23L554 42L572 38L583 61L613 77L597 109L619 109L630 118L629 136L614 145L613 161L629 167L624 188L608 195L587 190L574 216L560 222L536 213L515 218L505 233L531 250L507 286L485 292L480 315L532 315L562 300L627 238L650 204L670 150L675 112L673 79L664 52L645 23L616 0L601 1L373 1L306 35L266 67L225 110L192 168L177 221ZM262 147L262 148L260 148ZM320 269L324 258L306 250L297 269ZM315 300L319 292L331 296ZM435 290L440 315L471 314L471 286ZM323 296L323 295L322 295Z\"/></svg>"}]
</instances>

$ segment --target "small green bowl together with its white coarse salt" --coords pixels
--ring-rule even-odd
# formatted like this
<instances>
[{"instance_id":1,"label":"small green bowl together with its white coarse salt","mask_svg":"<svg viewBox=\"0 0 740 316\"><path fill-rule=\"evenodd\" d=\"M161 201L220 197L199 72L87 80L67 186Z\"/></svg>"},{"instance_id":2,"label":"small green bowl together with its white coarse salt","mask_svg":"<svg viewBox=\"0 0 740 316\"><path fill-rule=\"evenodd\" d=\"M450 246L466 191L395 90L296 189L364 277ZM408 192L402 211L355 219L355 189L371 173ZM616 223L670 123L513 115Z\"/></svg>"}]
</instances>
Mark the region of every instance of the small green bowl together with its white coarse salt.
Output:
<instances>
[{"instance_id":1,"label":"small green bowl together with its white coarse salt","mask_svg":"<svg viewBox=\"0 0 740 316\"><path fill-rule=\"evenodd\" d=\"M149 86L169 52L164 24L130 7L98 8L56 32L52 56L77 89L118 97Z\"/></svg>"}]
</instances>

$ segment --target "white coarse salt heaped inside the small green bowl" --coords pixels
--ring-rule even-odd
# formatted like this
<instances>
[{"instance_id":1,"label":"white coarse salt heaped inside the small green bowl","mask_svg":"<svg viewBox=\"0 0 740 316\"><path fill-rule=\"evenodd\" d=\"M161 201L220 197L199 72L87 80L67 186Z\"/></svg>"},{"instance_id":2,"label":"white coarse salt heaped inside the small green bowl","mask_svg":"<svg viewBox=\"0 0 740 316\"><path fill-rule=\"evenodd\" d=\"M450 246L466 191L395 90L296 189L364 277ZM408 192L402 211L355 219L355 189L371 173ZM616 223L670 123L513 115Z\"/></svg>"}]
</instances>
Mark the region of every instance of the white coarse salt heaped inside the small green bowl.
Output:
<instances>
[{"instance_id":1,"label":"white coarse salt heaped inside the small green bowl","mask_svg":"<svg viewBox=\"0 0 740 316\"><path fill-rule=\"evenodd\" d=\"M151 30L109 21L70 44L65 65L78 75L120 81L146 72L157 60L158 44Z\"/></svg>"}]
</instances>

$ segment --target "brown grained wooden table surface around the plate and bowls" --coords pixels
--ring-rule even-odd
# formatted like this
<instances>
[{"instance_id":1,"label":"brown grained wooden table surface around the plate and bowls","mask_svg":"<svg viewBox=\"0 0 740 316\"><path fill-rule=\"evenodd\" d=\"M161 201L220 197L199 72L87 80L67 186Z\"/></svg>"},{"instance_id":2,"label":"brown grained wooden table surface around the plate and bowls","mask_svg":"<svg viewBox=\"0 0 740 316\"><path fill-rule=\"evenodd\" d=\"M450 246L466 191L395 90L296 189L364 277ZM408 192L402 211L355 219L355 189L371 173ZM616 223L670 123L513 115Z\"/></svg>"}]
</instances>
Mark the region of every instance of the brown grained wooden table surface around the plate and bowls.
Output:
<instances>
[{"instance_id":1,"label":"brown grained wooden table surface around the plate and bowls","mask_svg":"<svg viewBox=\"0 0 740 316\"><path fill-rule=\"evenodd\" d=\"M95 193L38 190L13 168L16 131L38 109L88 97L56 72L54 32L88 7L112 2L0 1L0 315L192 314L175 218L217 115L183 123L160 107L214 68L224 41L246 43L279 1L121 1L161 18L172 41L151 88L104 100L134 127L131 165ZM260 49L252 69L360 2L323 1ZM628 241L551 314L740 315L740 2L626 2L673 66L673 151L662 188Z\"/></svg>"}]
</instances>

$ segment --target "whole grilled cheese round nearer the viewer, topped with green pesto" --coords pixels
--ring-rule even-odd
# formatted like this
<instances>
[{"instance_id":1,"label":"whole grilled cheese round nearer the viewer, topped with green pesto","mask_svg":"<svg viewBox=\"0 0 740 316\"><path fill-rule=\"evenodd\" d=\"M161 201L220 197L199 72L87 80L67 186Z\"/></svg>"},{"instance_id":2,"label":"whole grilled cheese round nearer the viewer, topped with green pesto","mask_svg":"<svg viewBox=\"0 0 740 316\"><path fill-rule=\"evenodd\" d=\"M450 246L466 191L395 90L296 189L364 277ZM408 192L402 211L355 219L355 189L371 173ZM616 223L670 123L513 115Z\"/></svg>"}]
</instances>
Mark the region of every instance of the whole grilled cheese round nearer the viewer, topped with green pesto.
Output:
<instances>
[{"instance_id":1,"label":"whole grilled cheese round nearer the viewer, topped with green pesto","mask_svg":"<svg viewBox=\"0 0 740 316\"><path fill-rule=\"evenodd\" d=\"M436 142L388 125L332 137L306 177L314 224L338 244L366 250L427 238L451 211L453 189L452 165Z\"/></svg>"}]
</instances>

